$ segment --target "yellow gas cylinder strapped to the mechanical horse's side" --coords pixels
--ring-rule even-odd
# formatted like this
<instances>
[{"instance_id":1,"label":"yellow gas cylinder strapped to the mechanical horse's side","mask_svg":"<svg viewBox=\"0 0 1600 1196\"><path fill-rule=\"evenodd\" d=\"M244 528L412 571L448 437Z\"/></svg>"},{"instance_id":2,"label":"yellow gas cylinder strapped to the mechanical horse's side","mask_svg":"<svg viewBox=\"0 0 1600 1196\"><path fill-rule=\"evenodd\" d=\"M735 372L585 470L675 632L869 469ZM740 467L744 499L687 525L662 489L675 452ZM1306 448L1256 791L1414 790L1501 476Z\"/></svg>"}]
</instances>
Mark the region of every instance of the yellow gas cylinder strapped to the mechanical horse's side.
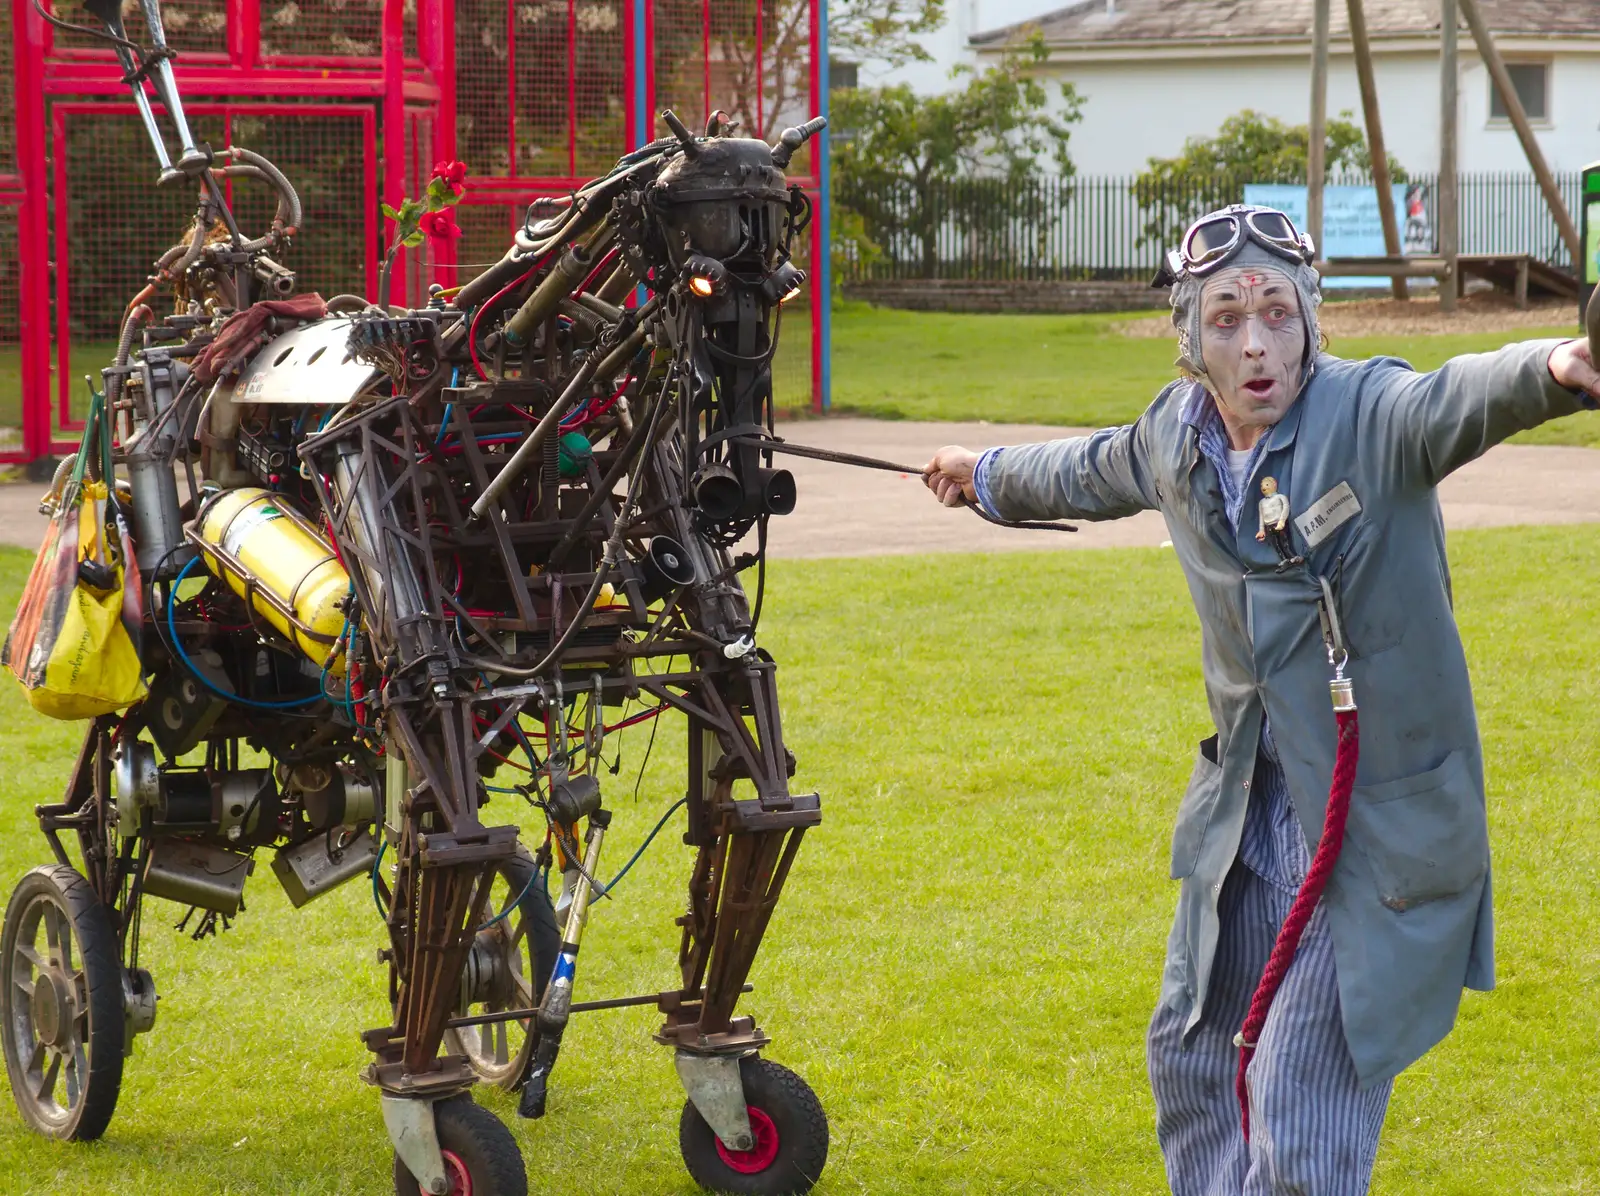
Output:
<instances>
[{"instance_id":1,"label":"yellow gas cylinder strapped to the mechanical horse's side","mask_svg":"<svg viewBox=\"0 0 1600 1196\"><path fill-rule=\"evenodd\" d=\"M350 576L282 494L245 486L208 499L195 518L205 566L318 665L344 630ZM330 665L344 673L344 652Z\"/></svg>"}]
</instances>

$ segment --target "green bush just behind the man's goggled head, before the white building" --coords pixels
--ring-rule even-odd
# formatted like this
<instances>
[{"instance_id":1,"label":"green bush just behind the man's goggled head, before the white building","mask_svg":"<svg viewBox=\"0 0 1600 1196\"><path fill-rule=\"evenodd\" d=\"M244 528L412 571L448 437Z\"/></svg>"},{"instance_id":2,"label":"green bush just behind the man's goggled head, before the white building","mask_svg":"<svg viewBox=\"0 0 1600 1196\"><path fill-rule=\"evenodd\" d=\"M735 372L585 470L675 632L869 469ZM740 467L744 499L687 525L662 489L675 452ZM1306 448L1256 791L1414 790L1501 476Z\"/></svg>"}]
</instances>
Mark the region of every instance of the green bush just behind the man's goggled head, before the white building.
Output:
<instances>
[{"instance_id":1,"label":"green bush just behind the man's goggled head, before the white building","mask_svg":"<svg viewBox=\"0 0 1600 1196\"><path fill-rule=\"evenodd\" d=\"M1222 122L1213 138L1189 138L1182 153L1150 158L1133 192L1147 213L1144 241L1174 243L1197 216L1240 203L1250 182L1306 182L1307 125L1285 125L1245 109ZM1366 134L1346 110L1328 122L1328 174L1370 174ZM1405 182L1405 168L1389 155L1389 177Z\"/></svg>"}]
</instances>

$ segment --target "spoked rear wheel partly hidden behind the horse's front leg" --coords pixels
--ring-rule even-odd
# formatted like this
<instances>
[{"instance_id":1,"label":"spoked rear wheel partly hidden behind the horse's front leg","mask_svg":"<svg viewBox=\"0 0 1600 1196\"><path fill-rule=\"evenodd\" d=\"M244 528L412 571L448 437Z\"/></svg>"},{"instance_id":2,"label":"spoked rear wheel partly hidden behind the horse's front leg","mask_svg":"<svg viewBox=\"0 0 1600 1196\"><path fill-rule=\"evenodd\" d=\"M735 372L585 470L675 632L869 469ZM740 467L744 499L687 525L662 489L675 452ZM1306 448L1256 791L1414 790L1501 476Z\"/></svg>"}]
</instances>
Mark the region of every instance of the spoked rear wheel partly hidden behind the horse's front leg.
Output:
<instances>
[{"instance_id":1,"label":"spoked rear wheel partly hidden behind the horse's front leg","mask_svg":"<svg viewBox=\"0 0 1600 1196\"><path fill-rule=\"evenodd\" d=\"M539 1004L562 950L550 894L534 879L534 863L528 852L518 849L498 867L490 910L490 916L499 921L478 931L472 942L472 953L461 972L456 1017L531 1009ZM466 1055L485 1084L507 1092L515 1092L528 1079L538 1039L531 1019L488 1022L445 1035L448 1049Z\"/></svg>"}]
</instances>

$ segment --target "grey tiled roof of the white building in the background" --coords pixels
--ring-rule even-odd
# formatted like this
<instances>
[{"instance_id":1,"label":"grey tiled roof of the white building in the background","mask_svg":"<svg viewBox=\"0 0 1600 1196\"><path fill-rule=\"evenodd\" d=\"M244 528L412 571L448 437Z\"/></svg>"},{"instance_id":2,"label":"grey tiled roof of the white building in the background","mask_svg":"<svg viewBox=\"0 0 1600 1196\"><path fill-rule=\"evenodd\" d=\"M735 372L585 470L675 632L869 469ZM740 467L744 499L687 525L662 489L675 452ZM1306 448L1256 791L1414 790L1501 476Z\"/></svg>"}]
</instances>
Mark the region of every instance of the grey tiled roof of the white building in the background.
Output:
<instances>
[{"instance_id":1,"label":"grey tiled roof of the white building in the background","mask_svg":"<svg viewBox=\"0 0 1600 1196\"><path fill-rule=\"evenodd\" d=\"M1496 34L1534 37L1600 35L1600 0L1478 0ZM1331 5L1333 38L1349 38L1342 3ZM1438 32L1438 0L1365 0L1373 40L1427 37ZM994 45L1038 29L1051 45L1094 46L1110 42L1181 45L1184 42L1310 40L1312 0L1078 0L1032 21L976 34L973 45ZM1470 37L1462 29L1462 40Z\"/></svg>"}]
</instances>

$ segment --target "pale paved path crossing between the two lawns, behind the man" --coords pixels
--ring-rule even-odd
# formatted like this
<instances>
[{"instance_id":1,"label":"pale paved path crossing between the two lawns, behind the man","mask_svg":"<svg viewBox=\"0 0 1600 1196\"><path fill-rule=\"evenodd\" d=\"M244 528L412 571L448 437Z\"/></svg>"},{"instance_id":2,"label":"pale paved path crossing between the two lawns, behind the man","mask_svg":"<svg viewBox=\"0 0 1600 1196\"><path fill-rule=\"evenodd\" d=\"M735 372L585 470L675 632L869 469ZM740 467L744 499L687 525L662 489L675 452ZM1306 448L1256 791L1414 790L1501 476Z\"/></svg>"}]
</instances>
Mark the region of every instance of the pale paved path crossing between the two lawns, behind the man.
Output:
<instances>
[{"instance_id":1,"label":"pale paved path crossing between the two lawns, behind the man","mask_svg":"<svg viewBox=\"0 0 1600 1196\"><path fill-rule=\"evenodd\" d=\"M1018 445L1072 435L1029 424L923 424L819 419L782 424L802 445L922 465L941 445ZM1075 536L992 528L970 512L946 510L918 476L878 473L786 457L800 488L794 515L771 523L774 556L877 556L917 552L1157 547L1166 526L1154 512L1115 523L1085 523ZM0 544L34 548L45 531L43 486L0 486ZM1440 489L1448 528L1530 523L1600 523L1600 451L1501 445Z\"/></svg>"}]
</instances>

